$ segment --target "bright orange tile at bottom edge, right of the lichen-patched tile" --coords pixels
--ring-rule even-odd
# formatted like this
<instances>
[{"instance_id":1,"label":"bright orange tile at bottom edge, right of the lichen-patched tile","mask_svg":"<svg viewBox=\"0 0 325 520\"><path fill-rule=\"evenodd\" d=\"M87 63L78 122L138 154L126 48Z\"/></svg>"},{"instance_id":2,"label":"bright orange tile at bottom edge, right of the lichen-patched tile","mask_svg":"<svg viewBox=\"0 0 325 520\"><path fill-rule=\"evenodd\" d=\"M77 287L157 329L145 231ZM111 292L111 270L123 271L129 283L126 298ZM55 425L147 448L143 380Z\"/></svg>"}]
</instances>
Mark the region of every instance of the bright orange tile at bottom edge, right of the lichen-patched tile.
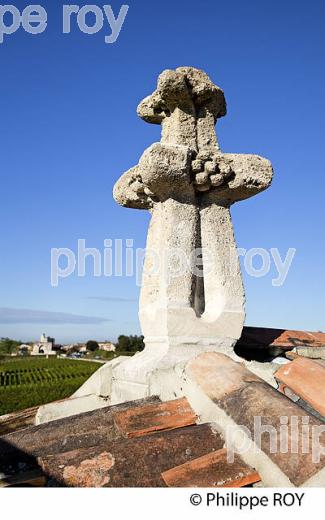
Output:
<instances>
[{"instance_id":1,"label":"bright orange tile at bottom edge, right of the lichen-patched tile","mask_svg":"<svg viewBox=\"0 0 325 520\"><path fill-rule=\"evenodd\" d=\"M227 450L213 451L162 474L169 487L243 487L259 482L259 474L238 456L229 464Z\"/></svg>"}]
</instances>

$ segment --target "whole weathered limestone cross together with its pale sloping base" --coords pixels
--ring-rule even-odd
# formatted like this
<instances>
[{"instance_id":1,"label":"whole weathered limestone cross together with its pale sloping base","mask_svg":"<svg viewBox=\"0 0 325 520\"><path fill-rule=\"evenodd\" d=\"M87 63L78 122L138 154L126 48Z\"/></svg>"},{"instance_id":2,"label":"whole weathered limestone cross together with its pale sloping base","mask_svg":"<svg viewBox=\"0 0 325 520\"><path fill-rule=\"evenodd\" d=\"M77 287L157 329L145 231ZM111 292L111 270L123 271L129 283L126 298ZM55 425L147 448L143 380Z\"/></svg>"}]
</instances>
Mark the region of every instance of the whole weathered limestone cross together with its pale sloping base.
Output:
<instances>
[{"instance_id":1,"label":"whole weathered limestone cross together with its pale sloping base","mask_svg":"<svg viewBox=\"0 0 325 520\"><path fill-rule=\"evenodd\" d=\"M224 94L200 70L164 71L138 114L161 124L161 141L122 175L114 198L151 212L139 309L146 348L103 365L72 399L42 406L37 423L150 395L186 395L216 422L186 366L211 351L239 360L231 347L245 296L230 206L268 188L271 163L221 152L215 123L226 114Z\"/></svg>"}]
</instances>

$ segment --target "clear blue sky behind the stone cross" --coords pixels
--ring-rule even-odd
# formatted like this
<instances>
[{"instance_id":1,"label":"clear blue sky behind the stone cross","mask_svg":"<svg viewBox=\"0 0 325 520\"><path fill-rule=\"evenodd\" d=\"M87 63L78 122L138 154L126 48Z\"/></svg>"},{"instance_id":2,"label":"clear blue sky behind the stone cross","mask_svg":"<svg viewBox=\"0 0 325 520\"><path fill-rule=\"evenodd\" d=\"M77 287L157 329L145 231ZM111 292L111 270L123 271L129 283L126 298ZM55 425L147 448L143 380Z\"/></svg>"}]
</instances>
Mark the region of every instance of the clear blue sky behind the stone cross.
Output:
<instances>
[{"instance_id":1,"label":"clear blue sky behind the stone cross","mask_svg":"<svg viewBox=\"0 0 325 520\"><path fill-rule=\"evenodd\" d=\"M44 331L64 342L140 331L134 278L94 278L89 265L86 277L53 288L50 249L75 251L78 238L100 250L105 238L144 246L149 214L117 206L112 187L159 140L138 102L163 69L182 65L225 91L223 151L274 165L272 187L233 207L238 246L297 249L283 286L272 286L274 267L244 276L246 323L324 330L325 3L129 0L111 45L108 27L87 36L73 24L63 35L65 2L40 3L46 32L21 29L0 45L0 336Z\"/></svg>"}]
</instances>

